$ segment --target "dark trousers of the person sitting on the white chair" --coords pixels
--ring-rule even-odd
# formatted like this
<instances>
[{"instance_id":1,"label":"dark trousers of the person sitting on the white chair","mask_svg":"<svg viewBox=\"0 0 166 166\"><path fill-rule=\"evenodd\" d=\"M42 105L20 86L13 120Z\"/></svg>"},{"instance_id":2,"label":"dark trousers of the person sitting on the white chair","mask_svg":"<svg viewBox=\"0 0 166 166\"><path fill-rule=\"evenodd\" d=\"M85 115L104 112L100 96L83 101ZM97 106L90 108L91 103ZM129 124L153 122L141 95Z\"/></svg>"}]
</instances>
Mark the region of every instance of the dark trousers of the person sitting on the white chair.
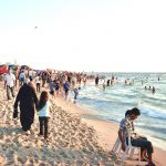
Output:
<instances>
[{"instance_id":1,"label":"dark trousers of the person sitting on the white chair","mask_svg":"<svg viewBox=\"0 0 166 166\"><path fill-rule=\"evenodd\" d=\"M146 137L132 138L131 143L133 146L141 147L141 149L146 149L147 154L154 153L153 145Z\"/></svg>"}]
</instances>

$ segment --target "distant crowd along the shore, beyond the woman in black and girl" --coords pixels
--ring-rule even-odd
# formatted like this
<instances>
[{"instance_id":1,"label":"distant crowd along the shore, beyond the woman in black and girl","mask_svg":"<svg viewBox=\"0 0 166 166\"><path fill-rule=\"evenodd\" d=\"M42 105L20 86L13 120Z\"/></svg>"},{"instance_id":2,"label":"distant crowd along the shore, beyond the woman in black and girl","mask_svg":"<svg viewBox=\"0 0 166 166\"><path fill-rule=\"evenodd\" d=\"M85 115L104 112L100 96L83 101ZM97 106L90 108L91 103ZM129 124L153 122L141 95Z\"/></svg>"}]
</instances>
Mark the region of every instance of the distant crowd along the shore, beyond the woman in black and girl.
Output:
<instances>
[{"instance_id":1,"label":"distant crowd along the shore, beyond the woman in black and girl","mask_svg":"<svg viewBox=\"0 0 166 166\"><path fill-rule=\"evenodd\" d=\"M49 87L50 93L53 97L55 95L64 94L68 98L69 90L74 92L74 98L79 94L81 89L81 83L86 84L86 74L83 73L72 73L72 72L48 72L33 70L20 70L18 75L12 73L9 69L8 73L4 75L4 87L7 89L7 96L10 100L10 93L14 97L13 89L14 86L22 86L24 83L29 82L37 93L41 92L41 87ZM19 81L19 84L18 84ZM63 93L64 92L64 93Z\"/></svg>"}]
</instances>

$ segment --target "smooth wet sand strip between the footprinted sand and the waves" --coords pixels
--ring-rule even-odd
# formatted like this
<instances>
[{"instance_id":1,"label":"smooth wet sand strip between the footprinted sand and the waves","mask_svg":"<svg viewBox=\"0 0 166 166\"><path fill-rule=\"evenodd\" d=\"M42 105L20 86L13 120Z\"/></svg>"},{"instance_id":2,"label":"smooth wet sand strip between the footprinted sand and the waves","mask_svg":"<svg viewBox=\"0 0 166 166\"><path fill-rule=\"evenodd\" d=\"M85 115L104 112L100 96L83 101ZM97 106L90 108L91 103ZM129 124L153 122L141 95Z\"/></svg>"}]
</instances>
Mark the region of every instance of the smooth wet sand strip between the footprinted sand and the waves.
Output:
<instances>
[{"instance_id":1,"label":"smooth wet sand strip between the footprinted sand and the waves","mask_svg":"<svg viewBox=\"0 0 166 166\"><path fill-rule=\"evenodd\" d=\"M71 100L66 102L61 96L55 97L55 104L58 106L61 106L63 110L72 113L73 115L81 117L83 122L94 127L97 132L98 142L101 146L107 152L112 149L117 138L118 124L114 122L108 122L108 121L96 118L94 114L95 111L92 110L91 112L81 106L77 106L76 104L73 104ZM106 129L103 129L103 128L106 128ZM166 156L166 151L163 151L154 146L153 158L154 158L154 162L157 164L157 166L165 166L165 163L166 163L165 156ZM126 164L128 165L136 164L136 162L127 160Z\"/></svg>"}]
</instances>

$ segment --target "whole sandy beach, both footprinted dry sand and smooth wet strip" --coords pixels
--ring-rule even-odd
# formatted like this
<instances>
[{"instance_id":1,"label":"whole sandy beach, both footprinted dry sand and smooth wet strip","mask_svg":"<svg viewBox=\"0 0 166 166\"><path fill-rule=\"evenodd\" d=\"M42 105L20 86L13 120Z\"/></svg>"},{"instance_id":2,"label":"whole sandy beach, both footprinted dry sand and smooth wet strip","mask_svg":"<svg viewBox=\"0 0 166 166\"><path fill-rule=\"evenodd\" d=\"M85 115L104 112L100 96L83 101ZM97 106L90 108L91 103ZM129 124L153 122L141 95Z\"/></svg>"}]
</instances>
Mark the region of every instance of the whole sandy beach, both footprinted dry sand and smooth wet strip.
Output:
<instances>
[{"instance_id":1,"label":"whole sandy beach, both footprinted dry sand and smooth wet strip","mask_svg":"<svg viewBox=\"0 0 166 166\"><path fill-rule=\"evenodd\" d=\"M110 155L117 138L116 124L97 120L93 112L65 102L62 97L51 98L50 135L49 142L45 142L43 137L38 136L38 114L31 134L22 132L19 118L12 118L13 102L14 100L7 101L1 83L0 165L121 165L118 159ZM166 152L155 148L154 158L157 166L165 166L164 156ZM126 160L125 165L134 166L137 162Z\"/></svg>"}]
</instances>

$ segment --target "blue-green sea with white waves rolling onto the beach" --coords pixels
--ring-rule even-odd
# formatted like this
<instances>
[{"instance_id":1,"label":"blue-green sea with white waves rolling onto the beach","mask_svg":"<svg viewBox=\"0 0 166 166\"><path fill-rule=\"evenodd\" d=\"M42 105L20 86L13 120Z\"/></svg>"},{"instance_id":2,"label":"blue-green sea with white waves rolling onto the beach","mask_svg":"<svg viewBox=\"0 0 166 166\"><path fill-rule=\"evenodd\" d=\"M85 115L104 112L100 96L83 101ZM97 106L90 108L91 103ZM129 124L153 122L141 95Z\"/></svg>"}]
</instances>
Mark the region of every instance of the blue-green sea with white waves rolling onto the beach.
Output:
<instances>
[{"instance_id":1,"label":"blue-green sea with white waves rolling onto the beach","mask_svg":"<svg viewBox=\"0 0 166 166\"><path fill-rule=\"evenodd\" d=\"M111 74L102 73L105 80ZM166 73L114 73L116 83L103 90L103 80L81 87L77 105L95 110L97 118L120 123L127 110L138 107L142 115L135 128L147 136L155 146L166 151ZM159 76L159 81L158 81ZM125 80L134 82L125 85ZM155 86L155 94L145 86ZM70 94L71 97L73 93Z\"/></svg>"}]
</instances>

